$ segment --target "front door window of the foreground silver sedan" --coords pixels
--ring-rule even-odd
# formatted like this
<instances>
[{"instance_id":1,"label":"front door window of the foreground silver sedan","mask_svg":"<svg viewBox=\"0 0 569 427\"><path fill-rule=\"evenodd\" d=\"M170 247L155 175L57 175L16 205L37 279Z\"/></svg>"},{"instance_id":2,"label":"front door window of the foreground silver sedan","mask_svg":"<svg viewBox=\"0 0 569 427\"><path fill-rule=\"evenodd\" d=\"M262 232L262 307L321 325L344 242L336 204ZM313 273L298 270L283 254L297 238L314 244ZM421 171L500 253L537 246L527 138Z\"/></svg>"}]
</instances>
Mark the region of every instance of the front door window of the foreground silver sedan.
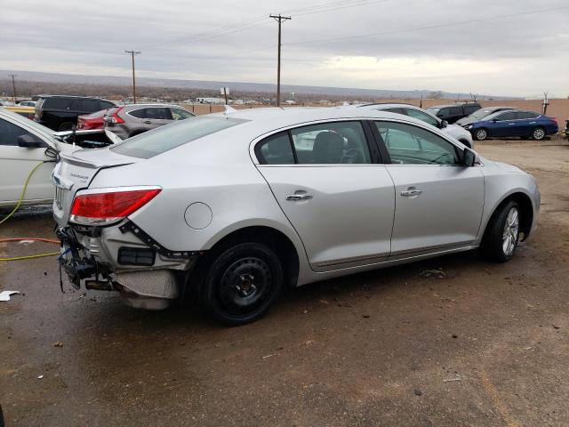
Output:
<instances>
[{"instance_id":1,"label":"front door window of the foreground silver sedan","mask_svg":"<svg viewBox=\"0 0 569 427\"><path fill-rule=\"evenodd\" d=\"M435 133L402 123L374 123L392 164L460 165L456 147Z\"/></svg>"}]
</instances>

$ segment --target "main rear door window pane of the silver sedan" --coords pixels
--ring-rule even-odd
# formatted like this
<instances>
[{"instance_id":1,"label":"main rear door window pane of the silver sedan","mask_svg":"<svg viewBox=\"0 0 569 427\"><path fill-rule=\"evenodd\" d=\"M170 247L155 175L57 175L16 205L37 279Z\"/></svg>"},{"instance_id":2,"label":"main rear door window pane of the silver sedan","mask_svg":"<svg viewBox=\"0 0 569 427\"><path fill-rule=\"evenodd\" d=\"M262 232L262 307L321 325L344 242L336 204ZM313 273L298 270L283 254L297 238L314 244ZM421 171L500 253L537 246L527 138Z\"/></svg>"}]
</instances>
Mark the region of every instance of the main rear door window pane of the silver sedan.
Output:
<instances>
[{"instance_id":1,"label":"main rear door window pane of the silver sedan","mask_svg":"<svg viewBox=\"0 0 569 427\"><path fill-rule=\"evenodd\" d=\"M299 164L342 165L372 163L364 129L359 122L331 122L291 130Z\"/></svg>"}]
</instances>

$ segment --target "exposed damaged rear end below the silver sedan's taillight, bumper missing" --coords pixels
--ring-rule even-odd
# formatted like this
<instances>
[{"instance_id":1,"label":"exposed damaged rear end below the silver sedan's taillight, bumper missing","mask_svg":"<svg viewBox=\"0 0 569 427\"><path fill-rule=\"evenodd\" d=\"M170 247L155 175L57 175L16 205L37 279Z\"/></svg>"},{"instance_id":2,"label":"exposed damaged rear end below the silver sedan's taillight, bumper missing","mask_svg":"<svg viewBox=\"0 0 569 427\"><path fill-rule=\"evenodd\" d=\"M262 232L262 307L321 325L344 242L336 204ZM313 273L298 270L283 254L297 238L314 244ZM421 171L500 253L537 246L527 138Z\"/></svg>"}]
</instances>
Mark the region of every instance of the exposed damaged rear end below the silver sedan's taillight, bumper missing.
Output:
<instances>
[{"instance_id":1,"label":"exposed damaged rear end below the silver sedan's taillight, bumper missing","mask_svg":"<svg viewBox=\"0 0 569 427\"><path fill-rule=\"evenodd\" d=\"M132 222L115 227L66 226L60 267L79 289L116 291L134 308L162 310L180 297L188 270L201 253L169 251Z\"/></svg>"}]
</instances>

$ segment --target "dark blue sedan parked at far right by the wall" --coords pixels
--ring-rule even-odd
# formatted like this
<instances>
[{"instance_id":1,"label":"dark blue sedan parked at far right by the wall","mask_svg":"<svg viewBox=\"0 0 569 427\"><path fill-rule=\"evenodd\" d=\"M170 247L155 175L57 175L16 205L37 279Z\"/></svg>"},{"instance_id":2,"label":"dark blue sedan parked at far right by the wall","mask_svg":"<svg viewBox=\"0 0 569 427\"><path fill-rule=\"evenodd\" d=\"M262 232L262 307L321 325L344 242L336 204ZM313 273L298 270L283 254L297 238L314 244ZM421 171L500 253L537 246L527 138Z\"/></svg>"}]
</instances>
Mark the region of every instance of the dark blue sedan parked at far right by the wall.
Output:
<instances>
[{"instance_id":1,"label":"dark blue sedan parked at far right by the wall","mask_svg":"<svg viewBox=\"0 0 569 427\"><path fill-rule=\"evenodd\" d=\"M478 141L486 138L518 136L540 141L547 135L557 133L559 127L555 118L535 111L500 111L464 126Z\"/></svg>"}]
</instances>

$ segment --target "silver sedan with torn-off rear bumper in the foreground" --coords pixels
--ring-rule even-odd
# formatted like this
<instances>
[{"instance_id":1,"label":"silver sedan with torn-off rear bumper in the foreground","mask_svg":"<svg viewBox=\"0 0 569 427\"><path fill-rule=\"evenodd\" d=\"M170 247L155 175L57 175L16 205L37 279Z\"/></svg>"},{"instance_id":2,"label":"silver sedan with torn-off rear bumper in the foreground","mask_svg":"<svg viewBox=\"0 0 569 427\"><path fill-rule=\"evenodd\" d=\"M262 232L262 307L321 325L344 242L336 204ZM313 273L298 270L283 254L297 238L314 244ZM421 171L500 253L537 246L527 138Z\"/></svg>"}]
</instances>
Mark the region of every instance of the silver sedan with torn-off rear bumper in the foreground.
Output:
<instances>
[{"instance_id":1,"label":"silver sedan with torn-off rear bumper in the foreground","mask_svg":"<svg viewBox=\"0 0 569 427\"><path fill-rule=\"evenodd\" d=\"M287 286L480 248L507 262L540 192L413 117L248 109L63 155L53 205L74 286L161 309L199 298L220 322Z\"/></svg>"}]
</instances>

